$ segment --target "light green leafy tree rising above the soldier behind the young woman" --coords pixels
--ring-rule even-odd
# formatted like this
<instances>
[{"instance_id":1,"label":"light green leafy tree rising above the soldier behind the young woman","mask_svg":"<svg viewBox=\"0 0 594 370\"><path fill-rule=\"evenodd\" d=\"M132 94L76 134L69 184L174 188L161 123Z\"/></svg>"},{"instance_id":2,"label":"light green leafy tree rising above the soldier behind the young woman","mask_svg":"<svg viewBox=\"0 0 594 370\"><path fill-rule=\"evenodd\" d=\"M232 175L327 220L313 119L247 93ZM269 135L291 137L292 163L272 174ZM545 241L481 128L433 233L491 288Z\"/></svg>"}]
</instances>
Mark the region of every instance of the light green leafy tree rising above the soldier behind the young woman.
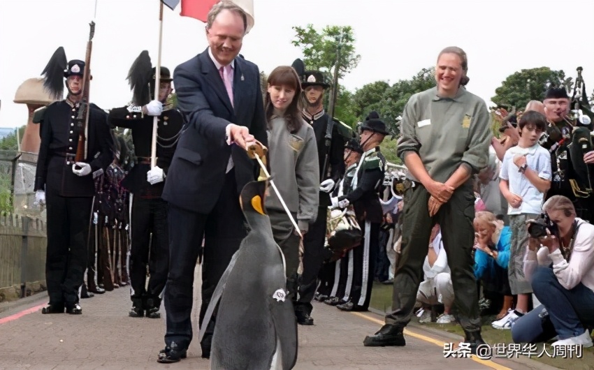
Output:
<instances>
[{"instance_id":1,"label":"light green leafy tree rising above the soldier behind the young woman","mask_svg":"<svg viewBox=\"0 0 594 370\"><path fill-rule=\"evenodd\" d=\"M314 29L312 24L307 27L293 27L296 32L292 41L303 52L303 64L307 70L321 71L328 82L332 82L334 67L338 65L338 80L345 77L358 65L361 55L356 54L354 34L350 26L326 26L321 31ZM340 47L340 58L337 52ZM338 64L337 64L338 63ZM353 110L352 94L340 87L336 96L334 117L351 126L356 123ZM328 107L330 94L324 96L324 106Z\"/></svg>"}]
</instances>

